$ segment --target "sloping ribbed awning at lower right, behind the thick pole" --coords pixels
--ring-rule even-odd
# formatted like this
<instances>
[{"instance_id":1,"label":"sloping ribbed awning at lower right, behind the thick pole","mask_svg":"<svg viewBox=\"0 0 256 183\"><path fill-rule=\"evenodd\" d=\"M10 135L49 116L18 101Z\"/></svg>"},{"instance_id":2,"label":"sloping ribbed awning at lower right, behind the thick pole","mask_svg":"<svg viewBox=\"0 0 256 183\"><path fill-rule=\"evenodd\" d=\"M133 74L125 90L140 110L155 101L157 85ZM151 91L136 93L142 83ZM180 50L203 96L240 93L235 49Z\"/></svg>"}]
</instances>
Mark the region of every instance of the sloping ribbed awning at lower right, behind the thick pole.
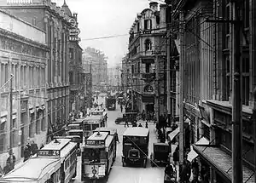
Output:
<instances>
[{"instance_id":1,"label":"sloping ribbed awning at lower right, behind the thick pole","mask_svg":"<svg viewBox=\"0 0 256 183\"><path fill-rule=\"evenodd\" d=\"M232 157L216 146L196 146L193 145L193 149L201 157L211 163L212 166L218 170L221 174L224 174L226 178L232 180ZM253 170L247 168L246 165L242 165L243 183L254 183Z\"/></svg>"}]
</instances>

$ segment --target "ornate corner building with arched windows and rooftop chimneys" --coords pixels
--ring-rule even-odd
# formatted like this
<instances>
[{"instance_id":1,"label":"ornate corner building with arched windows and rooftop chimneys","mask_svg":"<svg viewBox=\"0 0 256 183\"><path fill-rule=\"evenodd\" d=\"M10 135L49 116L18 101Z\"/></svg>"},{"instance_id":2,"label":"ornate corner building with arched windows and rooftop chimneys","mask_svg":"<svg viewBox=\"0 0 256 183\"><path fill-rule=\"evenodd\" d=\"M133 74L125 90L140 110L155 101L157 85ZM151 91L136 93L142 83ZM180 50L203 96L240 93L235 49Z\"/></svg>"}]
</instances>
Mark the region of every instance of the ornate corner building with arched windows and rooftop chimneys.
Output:
<instances>
[{"instance_id":1,"label":"ornate corner building with arched windows and rooftop chimneys","mask_svg":"<svg viewBox=\"0 0 256 183\"><path fill-rule=\"evenodd\" d=\"M166 112L166 5L149 3L131 26L129 61L134 110ZM157 115L158 116L158 115Z\"/></svg>"}]
</instances>

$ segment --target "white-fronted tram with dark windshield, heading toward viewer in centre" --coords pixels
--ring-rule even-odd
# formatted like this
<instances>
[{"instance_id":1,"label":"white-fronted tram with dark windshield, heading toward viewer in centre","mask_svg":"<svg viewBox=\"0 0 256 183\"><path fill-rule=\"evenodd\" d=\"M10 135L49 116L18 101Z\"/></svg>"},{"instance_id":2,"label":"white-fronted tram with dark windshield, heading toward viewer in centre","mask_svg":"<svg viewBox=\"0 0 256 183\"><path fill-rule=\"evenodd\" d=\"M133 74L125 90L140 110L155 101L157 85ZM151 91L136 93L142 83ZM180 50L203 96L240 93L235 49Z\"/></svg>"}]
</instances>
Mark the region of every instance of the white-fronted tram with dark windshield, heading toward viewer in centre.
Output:
<instances>
[{"instance_id":1,"label":"white-fronted tram with dark windshield, heading toward viewer in centre","mask_svg":"<svg viewBox=\"0 0 256 183\"><path fill-rule=\"evenodd\" d=\"M82 181L108 180L116 157L116 140L110 132L98 130L85 140L82 148Z\"/></svg>"}]
</instances>

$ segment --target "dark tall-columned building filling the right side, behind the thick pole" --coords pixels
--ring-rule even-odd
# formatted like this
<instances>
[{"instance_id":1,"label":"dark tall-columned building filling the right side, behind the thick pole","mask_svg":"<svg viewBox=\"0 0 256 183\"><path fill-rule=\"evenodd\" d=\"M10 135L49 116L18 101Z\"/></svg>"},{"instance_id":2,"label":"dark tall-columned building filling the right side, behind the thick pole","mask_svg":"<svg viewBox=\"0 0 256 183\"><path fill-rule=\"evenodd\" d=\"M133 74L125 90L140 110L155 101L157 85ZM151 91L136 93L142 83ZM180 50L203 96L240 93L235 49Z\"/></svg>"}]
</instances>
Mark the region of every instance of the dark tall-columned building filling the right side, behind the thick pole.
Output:
<instances>
[{"instance_id":1,"label":"dark tall-columned building filling the right side, behind the thick pole","mask_svg":"<svg viewBox=\"0 0 256 183\"><path fill-rule=\"evenodd\" d=\"M235 2L235 1L234 1ZM209 182L231 182L232 97L234 95L234 46L236 35L231 23L207 20L233 20L233 1L172 1L172 27L179 22L180 67L183 80L182 119L190 123L185 138L193 145L209 174ZM253 89L255 88L255 12L254 1L236 4L241 20L241 124L242 179L255 182L255 139L253 141ZM233 9L233 10L232 10ZM253 10L252 10L253 9ZM223 21L224 22L224 21ZM183 122L182 122L183 123ZM207 142L207 143L206 143ZM185 143L187 144L187 143ZM237 150L236 150L237 151ZM221 158L219 158L221 157Z\"/></svg>"}]
</instances>

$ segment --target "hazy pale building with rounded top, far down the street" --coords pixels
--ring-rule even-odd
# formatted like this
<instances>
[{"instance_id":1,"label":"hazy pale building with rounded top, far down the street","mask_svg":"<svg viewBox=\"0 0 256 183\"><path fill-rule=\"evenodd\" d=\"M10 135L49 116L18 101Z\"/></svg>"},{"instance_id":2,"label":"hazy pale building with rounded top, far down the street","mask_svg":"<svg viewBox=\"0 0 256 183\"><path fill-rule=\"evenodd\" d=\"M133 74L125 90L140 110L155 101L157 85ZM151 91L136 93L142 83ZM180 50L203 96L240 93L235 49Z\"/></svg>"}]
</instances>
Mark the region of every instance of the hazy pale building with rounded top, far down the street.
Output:
<instances>
[{"instance_id":1,"label":"hazy pale building with rounded top, far down the street","mask_svg":"<svg viewBox=\"0 0 256 183\"><path fill-rule=\"evenodd\" d=\"M93 48L84 49L83 65L91 71L93 91L102 89L108 83L108 63L105 54Z\"/></svg>"}]
</instances>

